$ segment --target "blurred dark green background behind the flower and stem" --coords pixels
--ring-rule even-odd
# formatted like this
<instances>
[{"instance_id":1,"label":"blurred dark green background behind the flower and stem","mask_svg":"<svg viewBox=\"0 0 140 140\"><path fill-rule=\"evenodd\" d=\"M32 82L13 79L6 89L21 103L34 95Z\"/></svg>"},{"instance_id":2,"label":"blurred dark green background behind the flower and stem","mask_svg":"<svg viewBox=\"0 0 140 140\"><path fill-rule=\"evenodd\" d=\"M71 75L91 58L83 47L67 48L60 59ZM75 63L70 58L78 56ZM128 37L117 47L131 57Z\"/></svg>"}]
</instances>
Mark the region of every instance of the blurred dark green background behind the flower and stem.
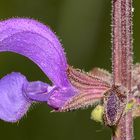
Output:
<instances>
[{"instance_id":1,"label":"blurred dark green background behind the flower and stem","mask_svg":"<svg viewBox=\"0 0 140 140\"><path fill-rule=\"evenodd\" d=\"M134 62L140 62L140 1L134 1ZM69 64L111 71L111 0L0 0L0 19L30 17L48 24L61 39ZM29 80L48 81L30 60L13 53L0 54L0 77L20 71ZM46 104L32 106L16 124L0 121L3 140L109 140L110 130L90 120L91 109L50 113ZM140 139L140 119L134 122Z\"/></svg>"}]
</instances>

